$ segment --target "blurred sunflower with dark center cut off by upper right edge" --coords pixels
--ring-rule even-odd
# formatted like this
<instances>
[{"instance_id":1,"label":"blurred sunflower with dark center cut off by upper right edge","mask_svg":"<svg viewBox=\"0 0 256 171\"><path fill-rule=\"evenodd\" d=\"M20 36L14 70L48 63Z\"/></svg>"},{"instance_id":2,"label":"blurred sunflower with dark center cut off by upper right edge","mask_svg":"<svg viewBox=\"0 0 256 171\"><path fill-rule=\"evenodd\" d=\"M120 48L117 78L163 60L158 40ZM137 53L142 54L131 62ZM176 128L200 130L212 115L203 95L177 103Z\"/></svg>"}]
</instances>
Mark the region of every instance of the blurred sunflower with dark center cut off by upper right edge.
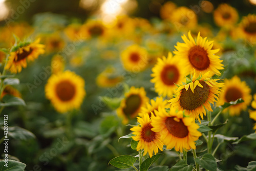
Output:
<instances>
[{"instance_id":1,"label":"blurred sunflower with dark center cut off by upper right edge","mask_svg":"<svg viewBox=\"0 0 256 171\"><path fill-rule=\"evenodd\" d=\"M239 34L242 38L249 42L256 41L256 15L249 14L241 20L239 26Z\"/></svg>"}]
</instances>

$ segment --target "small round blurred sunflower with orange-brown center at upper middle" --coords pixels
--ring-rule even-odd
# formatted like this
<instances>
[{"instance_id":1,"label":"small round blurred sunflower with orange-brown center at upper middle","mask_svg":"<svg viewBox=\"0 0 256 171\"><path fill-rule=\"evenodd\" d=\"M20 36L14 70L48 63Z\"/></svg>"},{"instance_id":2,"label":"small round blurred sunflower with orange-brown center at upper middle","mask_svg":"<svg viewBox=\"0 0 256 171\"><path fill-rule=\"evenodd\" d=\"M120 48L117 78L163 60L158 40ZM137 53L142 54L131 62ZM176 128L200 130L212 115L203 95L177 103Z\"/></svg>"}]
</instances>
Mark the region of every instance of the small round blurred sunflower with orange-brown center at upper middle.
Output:
<instances>
[{"instance_id":1,"label":"small round blurred sunflower with orange-brown center at upper middle","mask_svg":"<svg viewBox=\"0 0 256 171\"><path fill-rule=\"evenodd\" d=\"M138 45L129 46L122 51L121 61L124 69L127 71L143 71L148 63L147 51Z\"/></svg>"}]
</instances>

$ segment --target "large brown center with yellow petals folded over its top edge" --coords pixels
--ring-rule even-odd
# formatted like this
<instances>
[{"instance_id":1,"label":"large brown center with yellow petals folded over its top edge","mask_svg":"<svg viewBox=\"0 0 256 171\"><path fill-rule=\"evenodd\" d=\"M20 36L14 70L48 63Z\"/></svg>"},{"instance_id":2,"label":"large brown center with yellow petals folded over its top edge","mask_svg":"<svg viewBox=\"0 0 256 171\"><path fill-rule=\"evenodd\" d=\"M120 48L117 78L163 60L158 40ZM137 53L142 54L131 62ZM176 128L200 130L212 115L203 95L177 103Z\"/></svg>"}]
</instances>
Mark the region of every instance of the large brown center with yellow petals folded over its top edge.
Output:
<instances>
[{"instance_id":1,"label":"large brown center with yellow petals folded over its top edge","mask_svg":"<svg viewBox=\"0 0 256 171\"><path fill-rule=\"evenodd\" d=\"M194 93L190 88L182 89L180 95L180 105L186 110L194 110L200 107L208 98L209 86L204 81L199 81L203 88L197 86Z\"/></svg>"}]
</instances>

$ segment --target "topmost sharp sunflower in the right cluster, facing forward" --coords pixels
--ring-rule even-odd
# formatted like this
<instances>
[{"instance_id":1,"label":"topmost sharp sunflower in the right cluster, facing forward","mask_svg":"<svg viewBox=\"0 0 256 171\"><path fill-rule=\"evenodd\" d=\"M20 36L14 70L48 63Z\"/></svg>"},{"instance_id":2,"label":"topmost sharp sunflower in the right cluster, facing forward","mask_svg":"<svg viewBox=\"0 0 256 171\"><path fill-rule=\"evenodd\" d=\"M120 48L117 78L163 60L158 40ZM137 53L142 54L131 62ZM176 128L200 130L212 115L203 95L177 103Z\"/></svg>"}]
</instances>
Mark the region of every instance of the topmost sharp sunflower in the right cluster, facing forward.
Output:
<instances>
[{"instance_id":1,"label":"topmost sharp sunflower in the right cluster, facing forward","mask_svg":"<svg viewBox=\"0 0 256 171\"><path fill-rule=\"evenodd\" d=\"M223 60L220 60L219 56L215 55L219 49L213 50L212 46L214 41L208 41L206 37L201 37L198 33L197 41L188 32L188 38L181 36L185 43L177 42L174 54L181 60L183 66L187 66L189 71L196 70L196 74L205 74L207 71L211 71L211 76L214 74L221 75L219 70L223 70Z\"/></svg>"}]
</instances>

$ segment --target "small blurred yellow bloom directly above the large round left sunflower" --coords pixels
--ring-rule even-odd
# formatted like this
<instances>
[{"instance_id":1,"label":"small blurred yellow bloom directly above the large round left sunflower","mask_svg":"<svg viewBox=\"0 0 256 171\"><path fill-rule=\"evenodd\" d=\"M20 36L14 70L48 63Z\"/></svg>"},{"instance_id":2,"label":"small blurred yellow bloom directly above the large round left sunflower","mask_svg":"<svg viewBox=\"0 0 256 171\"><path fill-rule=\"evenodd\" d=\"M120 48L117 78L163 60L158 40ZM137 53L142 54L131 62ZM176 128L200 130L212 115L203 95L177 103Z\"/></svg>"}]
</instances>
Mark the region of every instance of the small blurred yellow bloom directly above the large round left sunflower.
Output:
<instances>
[{"instance_id":1,"label":"small blurred yellow bloom directly above the large round left sunflower","mask_svg":"<svg viewBox=\"0 0 256 171\"><path fill-rule=\"evenodd\" d=\"M58 74L64 71L65 69L65 59L56 54L52 57L51 60L52 74Z\"/></svg>"}]
</instances>

